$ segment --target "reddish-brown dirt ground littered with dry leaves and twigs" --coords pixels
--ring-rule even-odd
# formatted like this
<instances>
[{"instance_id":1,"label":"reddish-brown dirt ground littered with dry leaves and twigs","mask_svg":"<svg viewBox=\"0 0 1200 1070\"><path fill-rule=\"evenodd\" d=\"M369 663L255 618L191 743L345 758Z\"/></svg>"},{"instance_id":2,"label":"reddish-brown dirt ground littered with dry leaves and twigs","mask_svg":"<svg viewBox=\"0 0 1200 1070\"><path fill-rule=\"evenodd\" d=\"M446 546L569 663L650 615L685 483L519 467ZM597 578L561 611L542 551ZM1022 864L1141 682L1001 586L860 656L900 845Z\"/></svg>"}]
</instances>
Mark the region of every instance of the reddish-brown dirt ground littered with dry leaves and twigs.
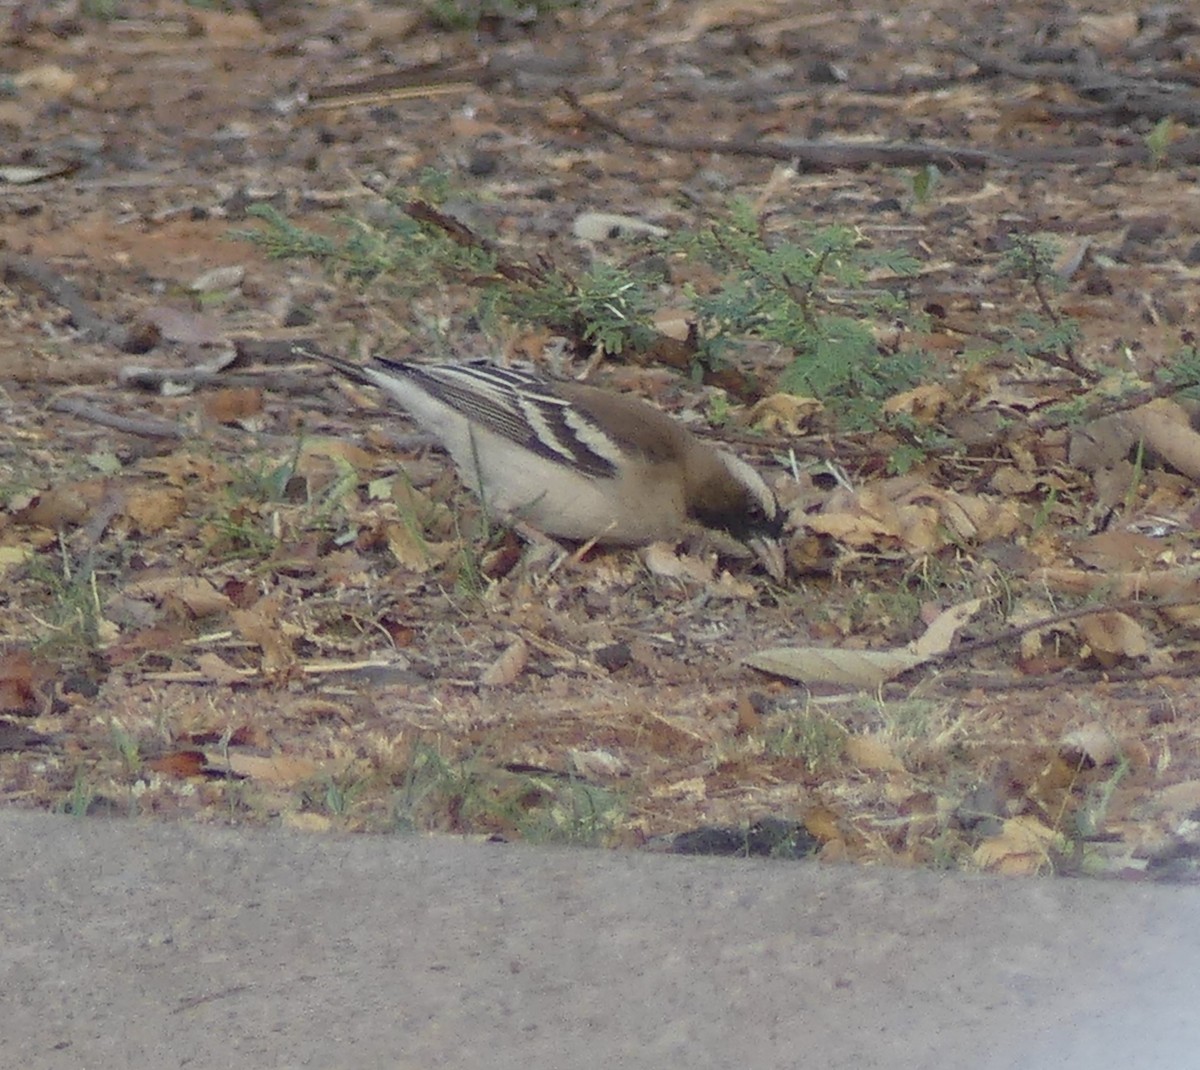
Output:
<instances>
[{"instance_id":1,"label":"reddish-brown dirt ground littered with dry leaves and twigs","mask_svg":"<svg viewBox=\"0 0 1200 1070\"><path fill-rule=\"evenodd\" d=\"M1086 415L1109 380L1157 381L1193 342L1186 5L689 0L452 30L335 0L114 7L19 4L0 31L8 805L1192 879L1187 447L1091 464L1037 423L1048 399L1078 391ZM426 89L331 94L397 68ZM802 157L792 176L790 149L754 151L798 139L964 151ZM575 238L582 212L694 227L768 190L780 227L905 248L961 449L899 476L882 432L736 433L791 509L784 582L703 547L559 560L463 534L478 510L445 458L282 343L448 357L546 338L481 331L466 287L364 285L240 236L264 204L344 233L431 170L445 211L575 266L629 253ZM1014 233L1062 246L1056 307L1091 393L1062 361L972 363L1036 311L998 270ZM184 367L212 371L185 389L164 374ZM662 369L602 378L706 409ZM836 458L845 485L790 473L790 450ZM973 602L956 642L976 653L886 685L743 661L894 651ZM1108 612L1072 618L1084 603Z\"/></svg>"}]
</instances>

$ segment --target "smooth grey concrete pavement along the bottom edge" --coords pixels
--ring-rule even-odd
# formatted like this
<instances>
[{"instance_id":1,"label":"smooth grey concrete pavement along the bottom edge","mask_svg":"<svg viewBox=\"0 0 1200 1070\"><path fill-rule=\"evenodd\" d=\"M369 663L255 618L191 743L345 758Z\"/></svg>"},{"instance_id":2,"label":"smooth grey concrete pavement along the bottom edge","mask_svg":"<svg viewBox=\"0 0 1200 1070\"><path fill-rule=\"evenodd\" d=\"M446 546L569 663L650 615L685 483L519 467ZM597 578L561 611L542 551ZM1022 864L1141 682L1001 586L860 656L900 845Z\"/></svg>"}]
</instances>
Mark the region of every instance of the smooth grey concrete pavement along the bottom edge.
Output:
<instances>
[{"instance_id":1,"label":"smooth grey concrete pavement along the bottom edge","mask_svg":"<svg viewBox=\"0 0 1200 1070\"><path fill-rule=\"evenodd\" d=\"M1193 1068L1200 889L0 811L0 1065Z\"/></svg>"}]
</instances>

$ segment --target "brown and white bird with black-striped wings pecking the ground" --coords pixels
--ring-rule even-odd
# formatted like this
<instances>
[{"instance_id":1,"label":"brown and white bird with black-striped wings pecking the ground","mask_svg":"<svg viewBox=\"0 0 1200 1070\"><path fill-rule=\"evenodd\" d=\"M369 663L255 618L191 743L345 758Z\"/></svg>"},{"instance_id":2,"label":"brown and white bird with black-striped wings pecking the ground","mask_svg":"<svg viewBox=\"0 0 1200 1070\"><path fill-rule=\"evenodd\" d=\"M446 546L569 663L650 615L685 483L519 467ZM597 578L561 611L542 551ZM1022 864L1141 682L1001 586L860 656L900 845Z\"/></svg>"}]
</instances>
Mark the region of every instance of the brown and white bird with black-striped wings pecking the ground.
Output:
<instances>
[{"instance_id":1,"label":"brown and white bird with black-striped wings pecking the ground","mask_svg":"<svg viewBox=\"0 0 1200 1070\"><path fill-rule=\"evenodd\" d=\"M360 365L302 353L382 390L440 440L486 509L545 535L644 546L698 524L754 547L781 533L754 468L641 398L487 360Z\"/></svg>"}]
</instances>

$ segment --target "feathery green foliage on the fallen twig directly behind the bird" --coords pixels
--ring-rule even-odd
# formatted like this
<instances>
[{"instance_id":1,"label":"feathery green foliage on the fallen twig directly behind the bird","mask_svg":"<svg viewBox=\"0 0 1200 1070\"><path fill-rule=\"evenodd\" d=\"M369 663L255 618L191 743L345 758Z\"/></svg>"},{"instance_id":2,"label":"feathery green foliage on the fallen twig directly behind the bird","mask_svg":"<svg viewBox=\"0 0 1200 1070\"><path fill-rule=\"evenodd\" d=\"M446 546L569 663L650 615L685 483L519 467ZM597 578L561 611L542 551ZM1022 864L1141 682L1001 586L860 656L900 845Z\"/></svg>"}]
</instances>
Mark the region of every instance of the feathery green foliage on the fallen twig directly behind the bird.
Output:
<instances>
[{"instance_id":1,"label":"feathery green foliage on the fallen twig directly behind the bird","mask_svg":"<svg viewBox=\"0 0 1200 1070\"><path fill-rule=\"evenodd\" d=\"M428 176L422 184L434 185ZM479 293L476 317L485 324L548 327L608 353L644 351L660 341L652 318L662 302L661 272L602 259L574 276L540 266L505 272L490 244L454 241L398 208L383 222L343 221L346 235L337 241L271 208L254 215L263 228L240 236L271 256L311 257L343 278L384 281L397 293L466 283ZM922 381L925 355L876 336L888 325L902 337L912 318L899 288L917 271L908 253L877 248L846 226L768 234L749 202L658 241L668 263L703 264L721 279L703 290L683 287L697 325L697 369L721 367L748 342L773 343L791 359L778 389L821 399L847 427L877 426L882 401Z\"/></svg>"}]
</instances>

